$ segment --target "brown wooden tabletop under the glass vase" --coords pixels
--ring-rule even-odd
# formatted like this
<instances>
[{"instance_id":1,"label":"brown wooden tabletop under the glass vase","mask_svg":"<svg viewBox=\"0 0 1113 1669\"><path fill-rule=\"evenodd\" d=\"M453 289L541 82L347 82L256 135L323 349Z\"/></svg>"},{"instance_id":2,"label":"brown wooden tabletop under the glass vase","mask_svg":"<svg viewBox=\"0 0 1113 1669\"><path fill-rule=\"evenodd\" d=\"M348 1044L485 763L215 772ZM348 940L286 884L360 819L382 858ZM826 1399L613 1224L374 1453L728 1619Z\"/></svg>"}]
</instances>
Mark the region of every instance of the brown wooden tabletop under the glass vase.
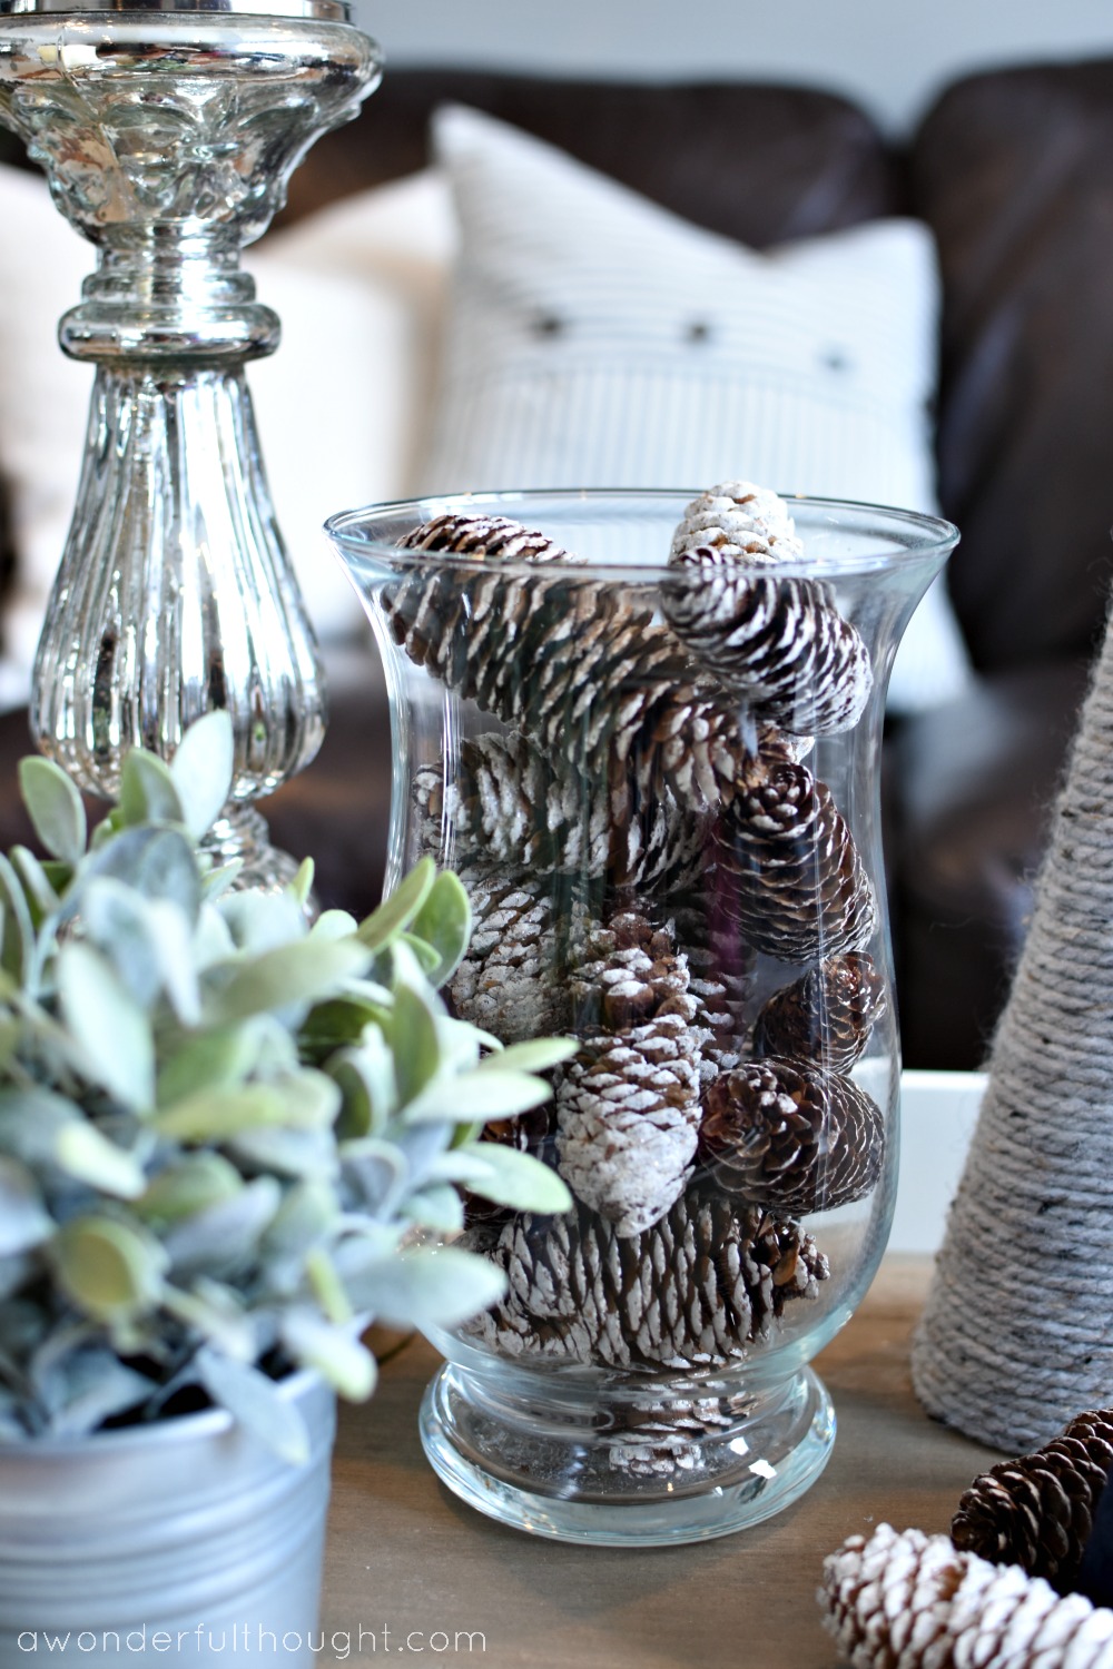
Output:
<instances>
[{"instance_id":1,"label":"brown wooden tabletop under the glass vase","mask_svg":"<svg viewBox=\"0 0 1113 1669\"><path fill-rule=\"evenodd\" d=\"M486 1669L834 1669L816 1604L824 1554L883 1520L946 1530L966 1484L1001 1459L913 1397L908 1347L929 1268L888 1257L816 1359L838 1437L813 1489L764 1524L682 1547L567 1545L466 1507L417 1435L437 1357L407 1342L374 1400L340 1415L320 1669L415 1652Z\"/></svg>"}]
</instances>

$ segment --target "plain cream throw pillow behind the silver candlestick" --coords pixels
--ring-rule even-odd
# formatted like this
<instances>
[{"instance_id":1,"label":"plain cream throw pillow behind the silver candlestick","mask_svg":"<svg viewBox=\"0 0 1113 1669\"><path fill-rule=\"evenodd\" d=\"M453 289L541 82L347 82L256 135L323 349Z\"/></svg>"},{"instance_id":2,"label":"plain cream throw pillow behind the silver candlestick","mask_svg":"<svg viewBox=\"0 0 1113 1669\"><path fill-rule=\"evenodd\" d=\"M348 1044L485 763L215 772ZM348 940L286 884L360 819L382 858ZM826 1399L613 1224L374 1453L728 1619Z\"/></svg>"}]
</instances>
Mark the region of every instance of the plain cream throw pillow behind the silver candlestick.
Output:
<instances>
[{"instance_id":1,"label":"plain cream throw pillow behind the silver candlestick","mask_svg":"<svg viewBox=\"0 0 1113 1669\"><path fill-rule=\"evenodd\" d=\"M43 611L77 496L92 367L57 344L93 249L45 182L0 167L0 471L17 572L0 623L0 706L27 701ZM409 491L427 424L431 352L454 244L447 185L432 170L267 237L245 255L282 319L275 355L249 366L279 526L327 644L364 614L320 531L337 509Z\"/></svg>"}]
</instances>

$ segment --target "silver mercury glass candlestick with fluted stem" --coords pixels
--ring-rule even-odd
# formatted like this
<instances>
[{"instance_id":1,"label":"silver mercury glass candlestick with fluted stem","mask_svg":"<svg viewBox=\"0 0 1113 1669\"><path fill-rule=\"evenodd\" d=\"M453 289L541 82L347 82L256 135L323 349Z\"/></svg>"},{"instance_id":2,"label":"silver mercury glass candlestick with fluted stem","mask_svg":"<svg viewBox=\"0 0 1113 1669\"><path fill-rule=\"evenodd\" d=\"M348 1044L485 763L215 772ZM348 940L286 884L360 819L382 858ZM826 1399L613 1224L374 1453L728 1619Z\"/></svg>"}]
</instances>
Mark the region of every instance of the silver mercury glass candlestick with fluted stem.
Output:
<instances>
[{"instance_id":1,"label":"silver mercury glass candlestick with fluted stem","mask_svg":"<svg viewBox=\"0 0 1113 1669\"><path fill-rule=\"evenodd\" d=\"M379 77L344 0L0 0L0 120L98 252L58 329L97 376L32 733L112 796L132 744L170 758L227 708L234 786L210 840L260 886L292 861L254 801L312 759L325 696L244 369L279 319L240 249Z\"/></svg>"}]
</instances>

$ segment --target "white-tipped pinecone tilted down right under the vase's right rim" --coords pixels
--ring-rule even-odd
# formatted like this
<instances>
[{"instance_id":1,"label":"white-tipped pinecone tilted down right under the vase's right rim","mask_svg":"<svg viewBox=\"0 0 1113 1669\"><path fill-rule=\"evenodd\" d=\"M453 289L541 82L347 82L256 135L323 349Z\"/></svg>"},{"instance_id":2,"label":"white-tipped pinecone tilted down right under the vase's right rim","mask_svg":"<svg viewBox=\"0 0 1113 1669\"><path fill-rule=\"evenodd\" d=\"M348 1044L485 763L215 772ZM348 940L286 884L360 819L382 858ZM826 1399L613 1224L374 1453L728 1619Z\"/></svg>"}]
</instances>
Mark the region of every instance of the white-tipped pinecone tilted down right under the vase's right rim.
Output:
<instances>
[{"instance_id":1,"label":"white-tipped pinecone tilted down right under the vase's right rim","mask_svg":"<svg viewBox=\"0 0 1113 1669\"><path fill-rule=\"evenodd\" d=\"M713 546L671 561L661 604L699 668L789 731L851 729L873 689L869 651L828 586L746 569Z\"/></svg>"}]
</instances>

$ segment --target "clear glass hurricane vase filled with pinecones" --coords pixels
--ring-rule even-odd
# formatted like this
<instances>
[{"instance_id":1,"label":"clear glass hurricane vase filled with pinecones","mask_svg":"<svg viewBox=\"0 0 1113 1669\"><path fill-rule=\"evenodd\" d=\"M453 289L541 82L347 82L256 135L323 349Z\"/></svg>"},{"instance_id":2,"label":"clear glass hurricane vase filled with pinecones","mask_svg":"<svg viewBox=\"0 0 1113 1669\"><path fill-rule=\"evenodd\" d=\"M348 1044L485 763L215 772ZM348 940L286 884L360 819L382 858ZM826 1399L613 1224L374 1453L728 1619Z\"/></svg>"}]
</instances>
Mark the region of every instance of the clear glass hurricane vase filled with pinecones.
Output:
<instances>
[{"instance_id":1,"label":"clear glass hurricane vase filled with pinecones","mask_svg":"<svg viewBox=\"0 0 1113 1669\"><path fill-rule=\"evenodd\" d=\"M507 1292L434 1339L421 1414L456 1494L567 1540L723 1535L811 1485L834 1412L808 1364L896 1187L884 689L958 534L691 497L329 524L390 689L387 886L426 853L457 870L449 1003L504 1043L579 1041L549 1107L487 1125L572 1208L466 1202Z\"/></svg>"}]
</instances>

